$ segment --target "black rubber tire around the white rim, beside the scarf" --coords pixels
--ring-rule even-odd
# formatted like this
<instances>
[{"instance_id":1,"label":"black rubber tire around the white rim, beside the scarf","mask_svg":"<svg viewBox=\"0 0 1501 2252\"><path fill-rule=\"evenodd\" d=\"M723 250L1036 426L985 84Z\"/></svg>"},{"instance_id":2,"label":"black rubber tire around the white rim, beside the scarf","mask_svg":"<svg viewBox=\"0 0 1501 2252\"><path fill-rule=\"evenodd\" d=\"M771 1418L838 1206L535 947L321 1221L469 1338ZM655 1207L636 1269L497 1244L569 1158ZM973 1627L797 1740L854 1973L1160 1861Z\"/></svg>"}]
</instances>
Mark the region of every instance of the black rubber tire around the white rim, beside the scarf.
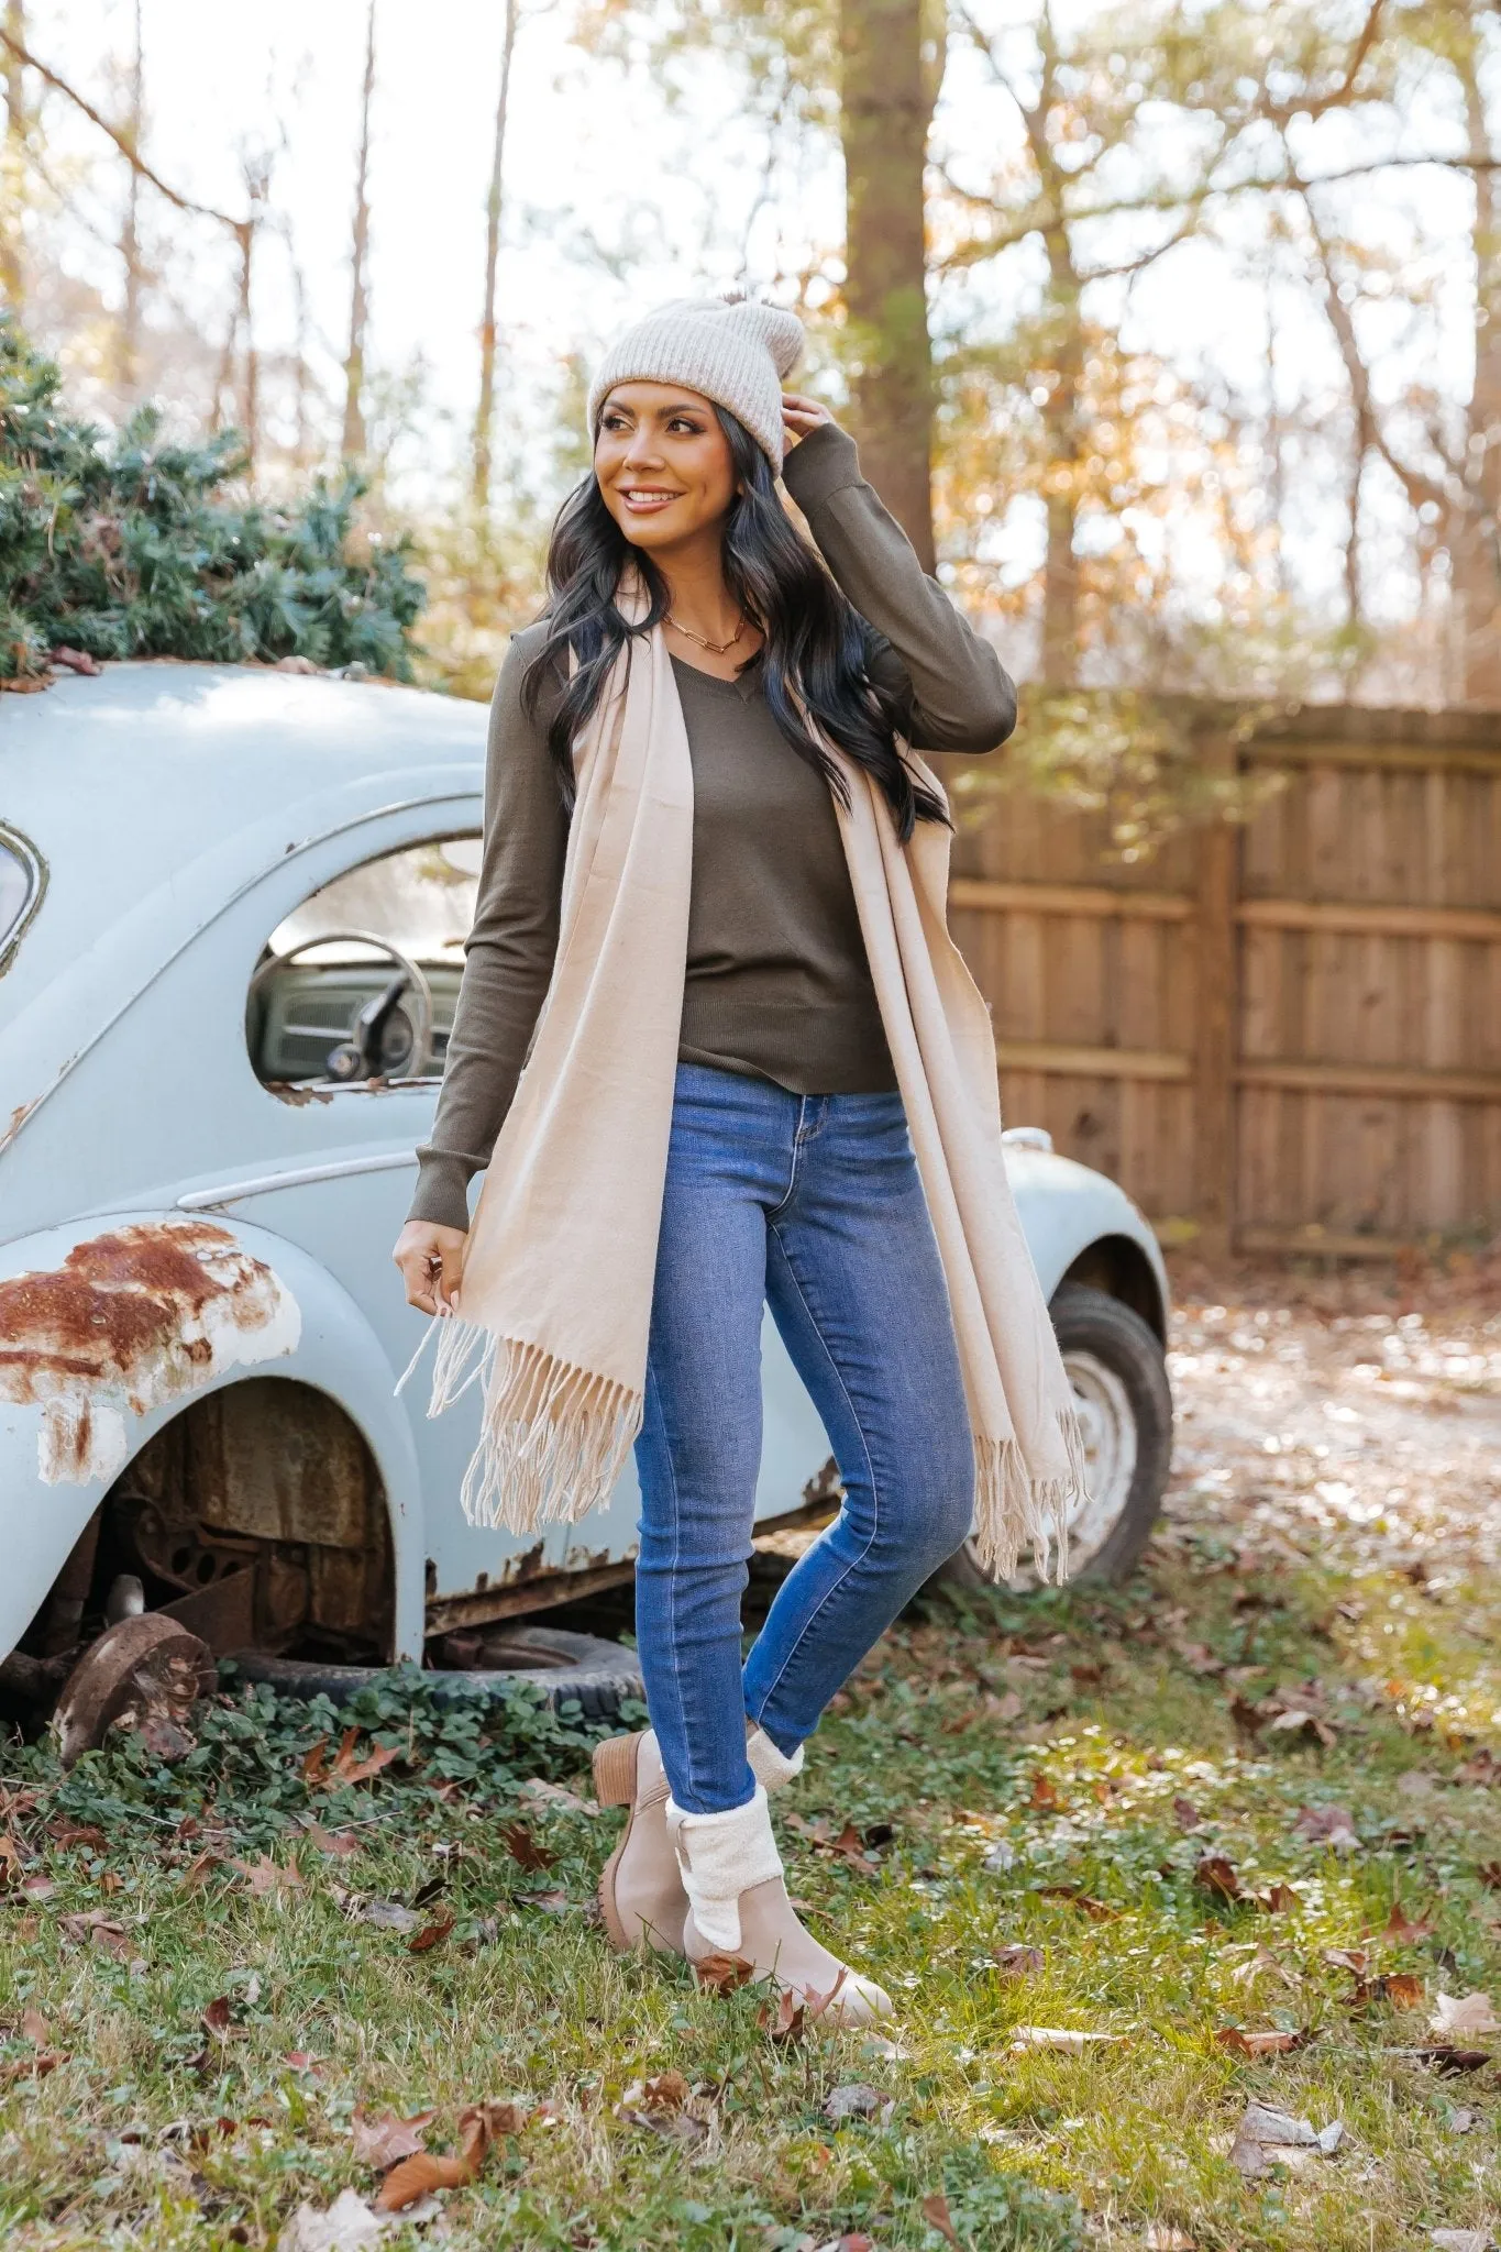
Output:
<instances>
[{"instance_id":1,"label":"black rubber tire around the white rim, beside the scarf","mask_svg":"<svg viewBox=\"0 0 1501 2252\"><path fill-rule=\"evenodd\" d=\"M1118 1297L1064 1284L1049 1306L1062 1353L1098 1362L1123 1389L1136 1437L1136 1462L1123 1507L1105 1538L1087 1554L1076 1579L1116 1583L1130 1579L1148 1545L1172 1468L1172 1392L1161 1340ZM970 1545L950 1556L934 1579L952 1588L992 1588ZM1010 1588L1031 1588L1035 1576L1022 1570Z\"/></svg>"}]
</instances>

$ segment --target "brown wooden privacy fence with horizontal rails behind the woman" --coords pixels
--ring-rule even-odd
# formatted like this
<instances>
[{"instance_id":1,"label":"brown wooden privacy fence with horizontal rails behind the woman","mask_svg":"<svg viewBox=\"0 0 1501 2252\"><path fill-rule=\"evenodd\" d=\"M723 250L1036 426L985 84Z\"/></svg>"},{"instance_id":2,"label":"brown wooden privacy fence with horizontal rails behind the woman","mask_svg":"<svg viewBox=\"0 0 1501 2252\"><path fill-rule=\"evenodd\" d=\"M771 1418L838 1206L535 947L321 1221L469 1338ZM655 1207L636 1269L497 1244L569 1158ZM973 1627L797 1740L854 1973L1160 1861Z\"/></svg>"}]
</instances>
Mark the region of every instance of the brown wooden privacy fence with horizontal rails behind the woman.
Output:
<instances>
[{"instance_id":1,"label":"brown wooden privacy fence with horizontal rails behind the woman","mask_svg":"<svg viewBox=\"0 0 1501 2252\"><path fill-rule=\"evenodd\" d=\"M1501 714L1303 707L1208 754L1280 788L1145 867L1022 788L961 826L1008 1124L1206 1250L1494 1230Z\"/></svg>"}]
</instances>

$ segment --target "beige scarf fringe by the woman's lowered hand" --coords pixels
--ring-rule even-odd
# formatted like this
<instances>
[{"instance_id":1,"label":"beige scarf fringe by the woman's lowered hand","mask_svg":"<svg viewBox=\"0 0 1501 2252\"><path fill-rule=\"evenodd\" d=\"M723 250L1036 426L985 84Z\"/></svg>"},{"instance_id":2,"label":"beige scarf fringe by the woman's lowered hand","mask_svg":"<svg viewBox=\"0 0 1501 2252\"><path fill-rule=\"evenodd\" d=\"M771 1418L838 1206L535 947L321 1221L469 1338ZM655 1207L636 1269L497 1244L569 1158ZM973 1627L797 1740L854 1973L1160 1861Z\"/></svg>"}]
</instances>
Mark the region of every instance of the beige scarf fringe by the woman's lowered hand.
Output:
<instances>
[{"instance_id":1,"label":"beige scarf fringe by the woman's lowered hand","mask_svg":"<svg viewBox=\"0 0 1501 2252\"><path fill-rule=\"evenodd\" d=\"M428 1414L479 1383L479 1446L459 1500L470 1525L533 1534L601 1509L641 1428L641 1394L482 1322L441 1324Z\"/></svg>"}]
</instances>

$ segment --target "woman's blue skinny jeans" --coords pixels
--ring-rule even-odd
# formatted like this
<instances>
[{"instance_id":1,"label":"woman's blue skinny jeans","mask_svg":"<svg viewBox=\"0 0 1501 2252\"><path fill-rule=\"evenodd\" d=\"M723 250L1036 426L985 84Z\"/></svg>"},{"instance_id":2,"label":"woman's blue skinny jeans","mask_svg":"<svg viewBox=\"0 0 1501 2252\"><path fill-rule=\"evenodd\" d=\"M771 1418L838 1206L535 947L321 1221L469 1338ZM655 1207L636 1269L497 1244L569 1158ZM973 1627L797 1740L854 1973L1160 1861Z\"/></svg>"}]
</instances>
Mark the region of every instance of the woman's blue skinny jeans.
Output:
<instances>
[{"instance_id":1,"label":"woman's blue skinny jeans","mask_svg":"<svg viewBox=\"0 0 1501 2252\"><path fill-rule=\"evenodd\" d=\"M765 1304L844 1507L743 1666ZM637 1644L666 1777L686 1813L743 1806L747 1716L790 1757L970 1531L970 1419L900 1094L677 1065L637 1473Z\"/></svg>"}]
</instances>

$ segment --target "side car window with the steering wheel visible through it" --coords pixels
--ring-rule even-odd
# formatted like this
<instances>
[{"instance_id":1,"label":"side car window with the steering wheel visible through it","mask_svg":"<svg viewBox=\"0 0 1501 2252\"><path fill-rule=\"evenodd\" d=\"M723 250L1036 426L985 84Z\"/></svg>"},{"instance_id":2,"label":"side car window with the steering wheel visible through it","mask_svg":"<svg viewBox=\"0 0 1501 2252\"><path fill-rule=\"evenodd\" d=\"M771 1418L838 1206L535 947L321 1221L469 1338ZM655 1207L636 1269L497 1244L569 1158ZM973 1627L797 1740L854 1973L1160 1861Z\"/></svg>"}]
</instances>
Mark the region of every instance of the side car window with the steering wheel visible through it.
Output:
<instances>
[{"instance_id":1,"label":"side car window with the steering wheel visible through it","mask_svg":"<svg viewBox=\"0 0 1501 2252\"><path fill-rule=\"evenodd\" d=\"M437 1079L475 919L479 838L434 838L322 885L266 941L245 1040L281 1092Z\"/></svg>"}]
</instances>

